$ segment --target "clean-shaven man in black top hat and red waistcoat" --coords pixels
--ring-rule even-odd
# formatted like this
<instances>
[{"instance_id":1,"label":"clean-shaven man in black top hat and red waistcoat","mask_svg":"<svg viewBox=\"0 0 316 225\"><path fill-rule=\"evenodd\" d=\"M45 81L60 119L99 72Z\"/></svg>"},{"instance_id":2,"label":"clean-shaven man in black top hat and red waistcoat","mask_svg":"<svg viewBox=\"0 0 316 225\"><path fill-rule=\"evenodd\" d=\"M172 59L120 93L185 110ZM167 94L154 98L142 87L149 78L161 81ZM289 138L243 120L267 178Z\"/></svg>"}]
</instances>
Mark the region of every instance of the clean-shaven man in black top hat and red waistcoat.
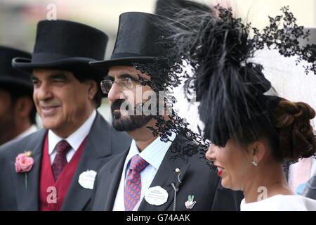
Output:
<instances>
[{"instance_id":1,"label":"clean-shaven man in black top hat and red waistcoat","mask_svg":"<svg viewBox=\"0 0 316 225\"><path fill-rule=\"evenodd\" d=\"M93 181L110 156L130 144L97 112L107 35L66 20L41 21L32 58L13 66L32 72L44 129L0 149L0 210L89 210Z\"/></svg>"}]
</instances>

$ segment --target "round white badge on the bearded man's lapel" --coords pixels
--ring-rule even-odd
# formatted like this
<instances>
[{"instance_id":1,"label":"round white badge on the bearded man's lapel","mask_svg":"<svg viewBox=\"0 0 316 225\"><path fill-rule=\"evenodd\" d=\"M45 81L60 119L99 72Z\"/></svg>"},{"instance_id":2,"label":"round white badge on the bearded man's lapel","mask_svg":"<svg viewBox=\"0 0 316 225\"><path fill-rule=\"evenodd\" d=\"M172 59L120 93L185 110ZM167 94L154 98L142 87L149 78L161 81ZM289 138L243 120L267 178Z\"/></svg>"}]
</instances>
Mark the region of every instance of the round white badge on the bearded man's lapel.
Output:
<instances>
[{"instance_id":1,"label":"round white badge on the bearded man's lapel","mask_svg":"<svg viewBox=\"0 0 316 225\"><path fill-rule=\"evenodd\" d=\"M168 200L168 192L161 186L148 188L145 193L145 200L150 205L163 205Z\"/></svg>"}]
</instances>

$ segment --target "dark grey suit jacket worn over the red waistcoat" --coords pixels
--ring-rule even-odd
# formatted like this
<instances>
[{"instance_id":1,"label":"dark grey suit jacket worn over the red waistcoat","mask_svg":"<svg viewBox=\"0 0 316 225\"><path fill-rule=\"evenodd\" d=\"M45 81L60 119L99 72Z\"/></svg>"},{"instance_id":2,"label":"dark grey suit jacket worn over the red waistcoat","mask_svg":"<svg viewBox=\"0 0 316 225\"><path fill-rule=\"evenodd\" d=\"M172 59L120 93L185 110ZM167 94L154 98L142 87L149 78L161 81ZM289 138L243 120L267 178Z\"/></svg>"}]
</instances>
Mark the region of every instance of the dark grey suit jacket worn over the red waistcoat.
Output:
<instances>
[{"instance_id":1,"label":"dark grey suit jacket worn over the red waistcoat","mask_svg":"<svg viewBox=\"0 0 316 225\"><path fill-rule=\"evenodd\" d=\"M24 139L1 146L0 210L39 210L39 176L46 132L41 129ZM112 155L121 153L130 145L127 134L115 131L97 114L61 210L90 210L93 191L80 186L79 175L87 169L98 172ZM34 158L33 168L27 173L27 190L25 174L15 172L15 157L25 150L31 150Z\"/></svg>"}]
</instances>

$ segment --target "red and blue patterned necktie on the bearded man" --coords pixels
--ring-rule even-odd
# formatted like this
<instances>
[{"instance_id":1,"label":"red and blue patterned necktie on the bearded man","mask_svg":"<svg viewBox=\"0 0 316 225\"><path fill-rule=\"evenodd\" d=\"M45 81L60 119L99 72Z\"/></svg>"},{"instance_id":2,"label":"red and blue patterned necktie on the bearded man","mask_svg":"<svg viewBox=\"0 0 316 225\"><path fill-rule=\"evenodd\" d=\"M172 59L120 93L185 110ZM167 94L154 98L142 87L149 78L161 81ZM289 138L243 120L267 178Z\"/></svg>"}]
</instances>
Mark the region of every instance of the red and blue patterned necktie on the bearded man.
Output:
<instances>
[{"instance_id":1,"label":"red and blue patterned necktie on the bearded man","mask_svg":"<svg viewBox=\"0 0 316 225\"><path fill-rule=\"evenodd\" d=\"M124 187L124 205L126 211L132 211L140 200L140 193L142 190L140 172L142 172L147 165L148 162L143 160L139 155L135 155L131 158L131 164L127 171Z\"/></svg>"}]
</instances>

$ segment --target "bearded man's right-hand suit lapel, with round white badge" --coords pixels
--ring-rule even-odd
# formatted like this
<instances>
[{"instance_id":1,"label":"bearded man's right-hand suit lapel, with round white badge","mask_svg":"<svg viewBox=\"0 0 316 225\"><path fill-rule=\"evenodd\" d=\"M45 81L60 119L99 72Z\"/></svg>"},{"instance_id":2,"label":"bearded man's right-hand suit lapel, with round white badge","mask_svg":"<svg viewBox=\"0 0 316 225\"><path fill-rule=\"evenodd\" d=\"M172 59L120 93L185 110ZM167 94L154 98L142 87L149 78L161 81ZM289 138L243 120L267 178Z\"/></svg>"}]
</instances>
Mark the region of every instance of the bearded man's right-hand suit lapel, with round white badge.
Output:
<instances>
[{"instance_id":1,"label":"bearded man's right-hand suit lapel, with round white badge","mask_svg":"<svg viewBox=\"0 0 316 225\"><path fill-rule=\"evenodd\" d=\"M172 184L174 184L175 188L179 189L181 188L181 184L178 181L178 174L176 173L176 169L180 169L180 181L184 182L185 174L187 173L187 169L190 168L190 163L186 162L185 160L171 160L171 157L173 156L172 148L175 146L175 144L179 143L179 139L176 138L174 143L169 148L168 152L166 153L164 160L162 161L162 164L160 165L156 176L154 176L154 180L152 181L152 184L150 184L150 187L154 186L161 186L164 188L168 193L168 200L164 205L150 205L147 203L145 198L143 198L142 202L140 203L140 207L138 208L138 211L166 211L171 203L173 203L174 199L174 188Z\"/></svg>"}]
</instances>

